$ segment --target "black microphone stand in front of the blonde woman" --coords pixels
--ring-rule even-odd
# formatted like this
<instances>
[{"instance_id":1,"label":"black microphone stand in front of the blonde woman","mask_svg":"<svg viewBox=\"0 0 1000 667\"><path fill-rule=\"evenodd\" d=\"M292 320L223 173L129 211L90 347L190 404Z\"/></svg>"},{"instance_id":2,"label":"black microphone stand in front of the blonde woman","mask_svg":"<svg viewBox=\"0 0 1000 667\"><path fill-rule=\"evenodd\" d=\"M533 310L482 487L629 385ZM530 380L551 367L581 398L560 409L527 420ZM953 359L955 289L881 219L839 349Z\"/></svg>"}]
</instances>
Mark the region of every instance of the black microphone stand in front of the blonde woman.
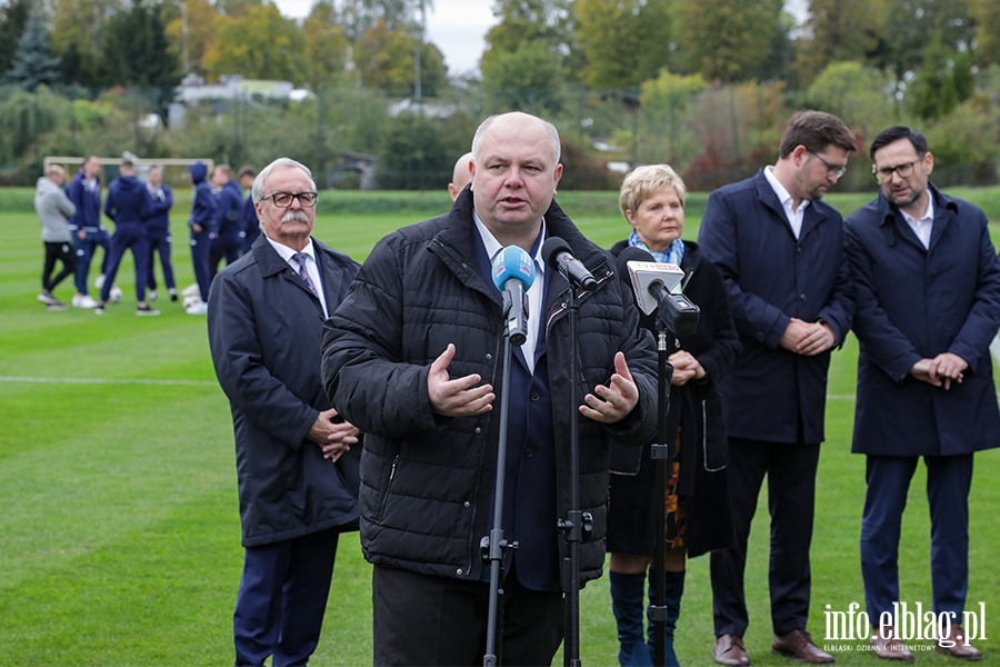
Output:
<instances>
[{"instance_id":1,"label":"black microphone stand in front of the blonde woman","mask_svg":"<svg viewBox=\"0 0 1000 667\"><path fill-rule=\"evenodd\" d=\"M653 605L649 608L649 620L653 625L653 655L652 663L657 667L667 664L667 522L664 507L667 504L667 477L668 468L673 462L670 451L671 442L667 434L667 409L669 406L669 390L667 385L668 349L667 326L661 318L657 318L659 329L657 331L657 442L651 445L650 458L656 461L657 502L653 510L653 520L657 522L657 541L653 549Z\"/></svg>"}]
</instances>

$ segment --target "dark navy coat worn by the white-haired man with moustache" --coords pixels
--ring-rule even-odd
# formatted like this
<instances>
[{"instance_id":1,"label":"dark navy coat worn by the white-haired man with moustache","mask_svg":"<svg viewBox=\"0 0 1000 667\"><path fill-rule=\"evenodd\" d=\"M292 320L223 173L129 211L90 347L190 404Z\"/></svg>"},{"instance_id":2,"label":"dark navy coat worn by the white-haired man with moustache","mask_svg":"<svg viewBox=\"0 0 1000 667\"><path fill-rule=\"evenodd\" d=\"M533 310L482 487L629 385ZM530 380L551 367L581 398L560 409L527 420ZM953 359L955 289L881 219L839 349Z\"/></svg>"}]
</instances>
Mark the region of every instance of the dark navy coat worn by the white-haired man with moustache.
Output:
<instances>
[{"instance_id":1,"label":"dark navy coat worn by the white-haired man with moustache","mask_svg":"<svg viewBox=\"0 0 1000 667\"><path fill-rule=\"evenodd\" d=\"M332 312L358 272L312 241ZM243 546L357 528L357 445L337 464L306 439L330 409L320 375L323 309L263 236L212 281L209 346L232 409Z\"/></svg>"}]
</instances>

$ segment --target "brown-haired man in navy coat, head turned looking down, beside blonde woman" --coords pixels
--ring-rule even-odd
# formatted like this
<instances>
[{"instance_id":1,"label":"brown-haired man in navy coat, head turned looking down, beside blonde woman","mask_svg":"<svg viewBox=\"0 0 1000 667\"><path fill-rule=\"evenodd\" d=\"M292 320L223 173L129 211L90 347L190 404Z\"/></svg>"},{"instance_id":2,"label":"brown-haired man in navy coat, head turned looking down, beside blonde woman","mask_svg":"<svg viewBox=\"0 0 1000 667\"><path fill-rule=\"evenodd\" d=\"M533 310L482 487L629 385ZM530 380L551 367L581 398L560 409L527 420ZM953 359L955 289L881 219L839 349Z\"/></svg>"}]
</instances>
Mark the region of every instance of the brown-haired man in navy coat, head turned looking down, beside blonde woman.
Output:
<instances>
[{"instance_id":1,"label":"brown-haired man in navy coat, head turned looking down, beside blonde woman","mask_svg":"<svg viewBox=\"0 0 1000 667\"><path fill-rule=\"evenodd\" d=\"M771 514L774 653L832 663L806 631L816 470L830 349L850 329L842 218L820 201L854 137L829 113L789 121L774 166L712 192L699 242L722 272L743 351L719 384L729 432L737 546L712 552L714 659L749 665L743 570L763 478Z\"/></svg>"}]
</instances>

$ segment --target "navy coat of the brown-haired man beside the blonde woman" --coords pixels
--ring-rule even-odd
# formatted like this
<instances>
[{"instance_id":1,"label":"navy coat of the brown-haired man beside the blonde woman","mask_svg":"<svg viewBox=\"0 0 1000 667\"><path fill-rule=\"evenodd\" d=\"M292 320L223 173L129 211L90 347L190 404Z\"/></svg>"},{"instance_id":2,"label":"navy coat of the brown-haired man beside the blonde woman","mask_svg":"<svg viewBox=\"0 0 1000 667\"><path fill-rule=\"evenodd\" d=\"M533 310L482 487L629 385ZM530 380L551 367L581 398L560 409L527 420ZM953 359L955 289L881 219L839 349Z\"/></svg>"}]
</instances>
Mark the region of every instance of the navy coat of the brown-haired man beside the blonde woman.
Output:
<instances>
[{"instance_id":1,"label":"navy coat of the brown-haired man beside the blonde woman","mask_svg":"<svg viewBox=\"0 0 1000 667\"><path fill-rule=\"evenodd\" d=\"M829 322L837 345L853 302L843 219L813 201L796 239L763 170L709 197L698 241L722 272L743 351L719 384L726 427L738 438L821 442L830 350L804 357L778 344L790 318Z\"/></svg>"}]
</instances>

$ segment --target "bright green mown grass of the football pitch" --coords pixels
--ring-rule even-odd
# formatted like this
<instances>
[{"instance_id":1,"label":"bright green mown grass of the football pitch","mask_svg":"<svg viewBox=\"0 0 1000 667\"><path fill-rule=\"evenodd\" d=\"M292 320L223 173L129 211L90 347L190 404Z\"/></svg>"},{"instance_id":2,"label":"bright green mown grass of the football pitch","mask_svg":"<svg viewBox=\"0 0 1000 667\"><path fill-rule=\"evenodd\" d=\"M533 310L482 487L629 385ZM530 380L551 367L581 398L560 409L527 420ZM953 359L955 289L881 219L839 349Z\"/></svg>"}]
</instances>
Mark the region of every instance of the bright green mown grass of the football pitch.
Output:
<instances>
[{"instance_id":1,"label":"bright green mown grass of the football pitch","mask_svg":"<svg viewBox=\"0 0 1000 667\"><path fill-rule=\"evenodd\" d=\"M851 210L867 197L829 199ZM686 238L697 236L703 202L692 196ZM596 242L607 247L624 236L624 221L609 212L613 206L600 207L597 216L588 208L567 203ZM184 212L174 216L178 237L186 237ZM321 216L316 236L363 259L382 235L417 219ZM231 419L214 381L204 318L162 301L161 317L136 317L131 260L119 276L124 299L103 317L47 312L34 300L42 260L37 219L0 213L0 665L231 664L242 550ZM187 245L174 250L179 282L189 285ZM69 282L57 290L67 301L71 292ZM864 462L850 455L856 359L850 339L833 356L830 374L812 548L810 630L820 645L827 605L846 610L863 603L858 535ZM969 608L986 604L988 640L978 646L987 664L1000 664L991 634L1000 603L997 457L978 456L971 499ZM902 599L929 607L923 480L920 469L903 522L900 569ZM766 495L757 516L747 647L754 665L787 665L769 653ZM371 663L369 581L357 534L350 535L341 540L314 665ZM588 585L581 606L583 664L616 665L607 578ZM711 664L712 640L708 559L699 558L689 565L678 629L681 663ZM840 665L877 664L857 648L836 656ZM918 660L949 661L931 654Z\"/></svg>"}]
</instances>

